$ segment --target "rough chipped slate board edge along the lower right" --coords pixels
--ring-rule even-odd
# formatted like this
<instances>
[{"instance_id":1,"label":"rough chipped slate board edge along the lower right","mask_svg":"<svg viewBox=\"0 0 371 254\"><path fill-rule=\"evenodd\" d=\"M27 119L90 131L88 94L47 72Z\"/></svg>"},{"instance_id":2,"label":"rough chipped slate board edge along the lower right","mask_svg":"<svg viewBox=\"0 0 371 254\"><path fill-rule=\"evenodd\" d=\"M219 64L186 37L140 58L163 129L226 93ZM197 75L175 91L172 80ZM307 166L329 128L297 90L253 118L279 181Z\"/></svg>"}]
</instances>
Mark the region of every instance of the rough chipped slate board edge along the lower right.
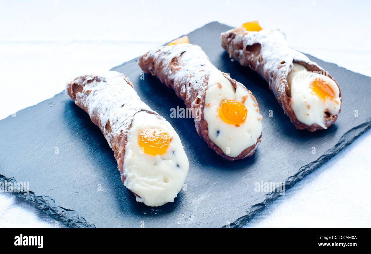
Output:
<instances>
[{"instance_id":1,"label":"rough chipped slate board edge along the lower right","mask_svg":"<svg viewBox=\"0 0 371 254\"><path fill-rule=\"evenodd\" d=\"M352 144L355 141L355 139L357 139L359 136L361 136L364 132L366 132L370 128L371 128L371 118L367 119L367 122L362 123L350 129L339 139L338 144L336 144L334 148L327 150L316 161L313 161L309 163L308 165L302 166L299 169L298 173L286 179L285 190L292 188L293 185L301 181L306 175L309 175L316 168L319 168L320 166L325 164L325 162L329 161L336 154L338 154L342 149ZM353 137L351 139L347 139L346 138L347 136L353 136ZM266 194L266 196L267 198L262 203L253 205L247 211L247 215L238 218L236 221L230 224L230 227L231 228L243 227L247 222L252 220L255 217L255 215L263 211L268 205L270 205L273 201L275 201L279 197L279 191L270 192ZM223 228L226 228L226 225L224 225Z\"/></svg>"}]
</instances>

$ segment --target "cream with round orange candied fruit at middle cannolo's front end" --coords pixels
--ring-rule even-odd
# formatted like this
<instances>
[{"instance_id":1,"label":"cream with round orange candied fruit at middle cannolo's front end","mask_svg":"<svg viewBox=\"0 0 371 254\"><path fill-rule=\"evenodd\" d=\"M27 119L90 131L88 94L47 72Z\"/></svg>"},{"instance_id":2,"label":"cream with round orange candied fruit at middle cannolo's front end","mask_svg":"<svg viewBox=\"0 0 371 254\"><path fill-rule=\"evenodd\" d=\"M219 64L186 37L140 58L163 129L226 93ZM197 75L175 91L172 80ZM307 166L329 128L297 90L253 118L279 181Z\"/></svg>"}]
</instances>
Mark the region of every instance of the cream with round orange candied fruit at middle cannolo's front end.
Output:
<instances>
[{"instance_id":1,"label":"cream with round orange candied fruit at middle cannolo's front end","mask_svg":"<svg viewBox=\"0 0 371 254\"><path fill-rule=\"evenodd\" d=\"M227 106L226 111L235 122L225 119L229 116L220 115L223 114L220 111L222 103L226 100L233 103ZM255 100L240 83L234 89L220 71L212 72L209 76L203 112L210 140L227 156L238 156L244 149L257 144L262 134L262 115Z\"/></svg>"}]
</instances>

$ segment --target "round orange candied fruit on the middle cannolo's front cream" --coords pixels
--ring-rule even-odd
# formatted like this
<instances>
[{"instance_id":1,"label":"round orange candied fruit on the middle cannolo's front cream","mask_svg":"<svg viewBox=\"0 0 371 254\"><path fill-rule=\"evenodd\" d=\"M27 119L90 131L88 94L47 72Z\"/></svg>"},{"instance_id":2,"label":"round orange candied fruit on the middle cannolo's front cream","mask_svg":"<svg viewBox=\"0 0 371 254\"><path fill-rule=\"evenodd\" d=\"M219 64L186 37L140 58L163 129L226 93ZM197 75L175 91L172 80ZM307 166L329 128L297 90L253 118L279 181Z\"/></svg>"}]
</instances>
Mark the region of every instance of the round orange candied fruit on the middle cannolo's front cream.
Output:
<instances>
[{"instance_id":1,"label":"round orange candied fruit on the middle cannolo's front cream","mask_svg":"<svg viewBox=\"0 0 371 254\"><path fill-rule=\"evenodd\" d=\"M241 124L246 120L247 109L237 100L223 100L219 105L218 115L223 122Z\"/></svg>"}]
</instances>

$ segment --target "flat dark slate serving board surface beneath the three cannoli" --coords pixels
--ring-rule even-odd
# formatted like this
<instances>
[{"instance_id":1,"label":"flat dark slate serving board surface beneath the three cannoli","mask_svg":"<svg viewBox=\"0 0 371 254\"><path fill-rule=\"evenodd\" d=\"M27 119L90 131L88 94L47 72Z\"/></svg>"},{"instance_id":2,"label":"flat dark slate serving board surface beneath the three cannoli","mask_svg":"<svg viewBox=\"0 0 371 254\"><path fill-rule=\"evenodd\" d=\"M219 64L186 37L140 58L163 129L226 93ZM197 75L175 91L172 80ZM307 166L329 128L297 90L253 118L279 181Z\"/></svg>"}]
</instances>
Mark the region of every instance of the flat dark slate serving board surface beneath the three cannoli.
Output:
<instances>
[{"instance_id":1,"label":"flat dark slate serving board surface beneath the three cannoli","mask_svg":"<svg viewBox=\"0 0 371 254\"><path fill-rule=\"evenodd\" d=\"M112 70L125 73L178 132L190 162L186 191L161 207L136 202L102 133L64 92L0 121L0 182L29 182L30 195L16 195L69 227L242 227L279 197L255 192L256 182L285 182L287 190L370 128L371 78L309 56L339 83L342 112L328 130L295 129L267 83L221 48L220 33L230 28L212 22L187 35L259 102L263 139L255 155L234 162L217 156L198 137L193 119L170 118L170 109L184 103L155 77L140 79L133 59Z\"/></svg>"}]
</instances>

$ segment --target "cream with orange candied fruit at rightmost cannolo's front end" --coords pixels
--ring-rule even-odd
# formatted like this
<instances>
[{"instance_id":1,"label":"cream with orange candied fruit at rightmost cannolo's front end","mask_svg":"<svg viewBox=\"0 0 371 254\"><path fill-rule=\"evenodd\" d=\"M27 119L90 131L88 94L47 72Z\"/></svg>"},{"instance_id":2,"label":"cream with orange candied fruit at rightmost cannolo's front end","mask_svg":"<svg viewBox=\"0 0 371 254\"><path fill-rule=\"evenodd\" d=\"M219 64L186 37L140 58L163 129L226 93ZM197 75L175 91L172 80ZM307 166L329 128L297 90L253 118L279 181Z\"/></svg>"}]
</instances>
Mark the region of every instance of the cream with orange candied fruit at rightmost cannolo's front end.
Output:
<instances>
[{"instance_id":1,"label":"cream with orange candied fruit at rightmost cannolo's front end","mask_svg":"<svg viewBox=\"0 0 371 254\"><path fill-rule=\"evenodd\" d=\"M320 73L309 72L297 63L287 77L291 108L306 125L326 127L326 113L337 115L341 106L335 81Z\"/></svg>"}]
</instances>

